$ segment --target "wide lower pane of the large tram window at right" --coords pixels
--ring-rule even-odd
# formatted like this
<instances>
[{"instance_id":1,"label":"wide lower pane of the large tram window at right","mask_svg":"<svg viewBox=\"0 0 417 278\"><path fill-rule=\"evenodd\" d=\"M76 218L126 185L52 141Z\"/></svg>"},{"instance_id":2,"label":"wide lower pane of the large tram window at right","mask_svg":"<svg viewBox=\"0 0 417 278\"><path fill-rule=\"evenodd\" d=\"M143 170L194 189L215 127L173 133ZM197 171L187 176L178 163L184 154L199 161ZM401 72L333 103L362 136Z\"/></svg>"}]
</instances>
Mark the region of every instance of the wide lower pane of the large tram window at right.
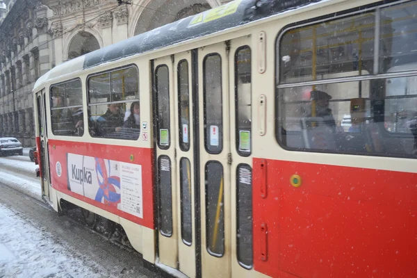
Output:
<instances>
[{"instance_id":1,"label":"wide lower pane of the large tram window at right","mask_svg":"<svg viewBox=\"0 0 417 278\"><path fill-rule=\"evenodd\" d=\"M291 150L416 158L415 78L280 88L277 138Z\"/></svg>"}]
</instances>

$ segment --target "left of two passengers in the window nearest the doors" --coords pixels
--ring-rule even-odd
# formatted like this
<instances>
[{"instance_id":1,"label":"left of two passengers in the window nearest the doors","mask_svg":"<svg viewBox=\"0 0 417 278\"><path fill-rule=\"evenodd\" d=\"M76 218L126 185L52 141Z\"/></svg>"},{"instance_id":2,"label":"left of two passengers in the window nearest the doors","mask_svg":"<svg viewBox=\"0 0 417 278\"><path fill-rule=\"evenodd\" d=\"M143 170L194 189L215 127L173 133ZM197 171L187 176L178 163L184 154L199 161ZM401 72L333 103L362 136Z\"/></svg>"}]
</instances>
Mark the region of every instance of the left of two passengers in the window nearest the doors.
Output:
<instances>
[{"instance_id":1,"label":"left of two passengers in the window nearest the doors","mask_svg":"<svg viewBox=\"0 0 417 278\"><path fill-rule=\"evenodd\" d=\"M117 101L117 100L116 100ZM97 119L101 136L113 136L123 128L123 111L120 104L107 104L107 111Z\"/></svg>"}]
</instances>

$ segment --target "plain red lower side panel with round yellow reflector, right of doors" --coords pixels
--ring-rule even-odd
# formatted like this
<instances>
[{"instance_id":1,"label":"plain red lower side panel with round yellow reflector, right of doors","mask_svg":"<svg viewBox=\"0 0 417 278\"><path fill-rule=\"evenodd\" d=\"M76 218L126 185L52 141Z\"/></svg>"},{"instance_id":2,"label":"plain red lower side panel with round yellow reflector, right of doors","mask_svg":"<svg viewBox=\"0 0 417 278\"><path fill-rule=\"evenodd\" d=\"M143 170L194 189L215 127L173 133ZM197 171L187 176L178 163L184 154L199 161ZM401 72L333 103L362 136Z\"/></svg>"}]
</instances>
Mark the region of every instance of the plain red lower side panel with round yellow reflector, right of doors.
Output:
<instances>
[{"instance_id":1,"label":"plain red lower side panel with round yellow reflector, right of doors","mask_svg":"<svg viewBox=\"0 0 417 278\"><path fill-rule=\"evenodd\" d=\"M416 173L256 158L254 179L256 270L416 274Z\"/></svg>"}]
</instances>

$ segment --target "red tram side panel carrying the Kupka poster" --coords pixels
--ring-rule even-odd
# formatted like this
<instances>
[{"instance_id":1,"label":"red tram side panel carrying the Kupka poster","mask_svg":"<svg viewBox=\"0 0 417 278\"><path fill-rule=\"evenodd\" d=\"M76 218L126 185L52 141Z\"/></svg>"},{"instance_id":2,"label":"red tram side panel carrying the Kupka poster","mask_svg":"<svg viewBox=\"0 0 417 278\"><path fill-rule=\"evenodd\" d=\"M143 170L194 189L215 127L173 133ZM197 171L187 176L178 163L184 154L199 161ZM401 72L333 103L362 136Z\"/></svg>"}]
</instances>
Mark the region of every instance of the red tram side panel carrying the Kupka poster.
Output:
<instances>
[{"instance_id":1,"label":"red tram side panel carrying the Kupka poster","mask_svg":"<svg viewBox=\"0 0 417 278\"><path fill-rule=\"evenodd\" d=\"M49 152L54 189L154 229L152 149L49 140Z\"/></svg>"}]
</instances>

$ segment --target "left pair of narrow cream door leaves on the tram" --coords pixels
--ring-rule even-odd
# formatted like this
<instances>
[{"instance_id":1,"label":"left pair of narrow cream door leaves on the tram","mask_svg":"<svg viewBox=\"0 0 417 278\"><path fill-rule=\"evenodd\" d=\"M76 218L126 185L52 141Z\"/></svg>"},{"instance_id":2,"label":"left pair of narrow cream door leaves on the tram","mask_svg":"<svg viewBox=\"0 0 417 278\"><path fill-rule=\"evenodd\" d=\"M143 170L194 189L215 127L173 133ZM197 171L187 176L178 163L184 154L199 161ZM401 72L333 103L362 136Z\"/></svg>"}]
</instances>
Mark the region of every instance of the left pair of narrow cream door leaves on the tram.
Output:
<instances>
[{"instance_id":1,"label":"left pair of narrow cream door leaves on the tram","mask_svg":"<svg viewBox=\"0 0 417 278\"><path fill-rule=\"evenodd\" d=\"M191 52L154 60L158 256L196 275Z\"/></svg>"}]
</instances>

